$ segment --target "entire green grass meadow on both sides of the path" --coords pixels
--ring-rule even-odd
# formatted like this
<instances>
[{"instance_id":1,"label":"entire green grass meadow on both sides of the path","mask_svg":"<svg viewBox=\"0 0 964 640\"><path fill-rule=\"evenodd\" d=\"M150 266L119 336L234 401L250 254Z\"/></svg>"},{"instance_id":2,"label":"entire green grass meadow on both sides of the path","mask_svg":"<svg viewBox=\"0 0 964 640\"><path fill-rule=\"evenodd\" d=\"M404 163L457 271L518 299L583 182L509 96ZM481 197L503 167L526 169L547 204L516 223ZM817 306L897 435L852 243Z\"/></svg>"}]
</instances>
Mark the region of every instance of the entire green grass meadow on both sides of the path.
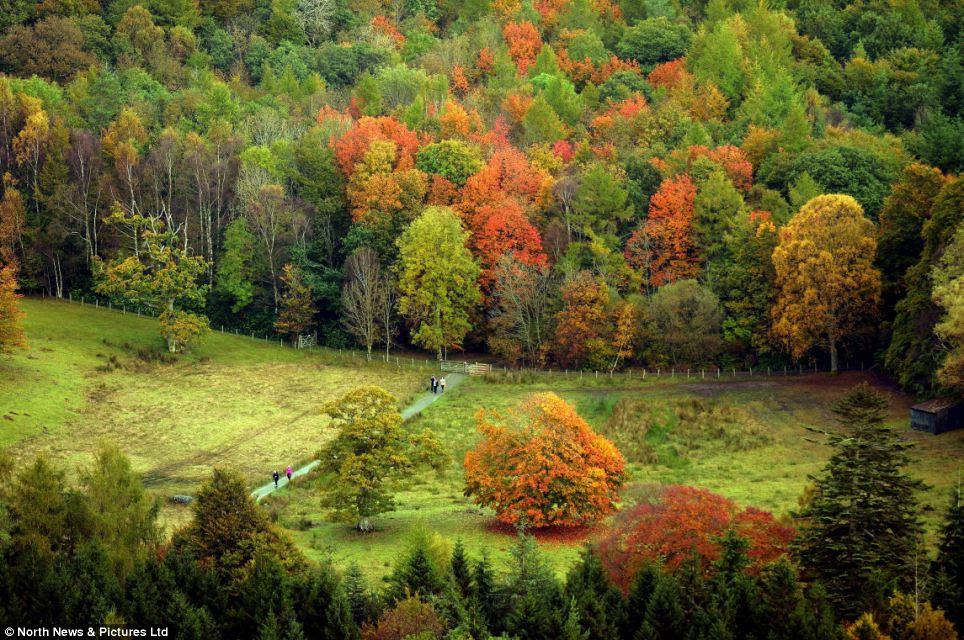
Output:
<instances>
[{"instance_id":1,"label":"entire green grass meadow on both sides of the path","mask_svg":"<svg viewBox=\"0 0 964 640\"><path fill-rule=\"evenodd\" d=\"M325 401L354 386L378 384L401 406L430 375L219 333L197 352L163 362L151 318L50 300L24 300L23 308L29 348L0 359L0 448L18 464L44 453L74 469L100 442L114 441L161 497L191 493L215 465L239 470L252 486L262 484L273 468L310 459L331 436L317 418ZM474 416L550 390L626 455L627 501L648 483L683 483L785 515L829 455L804 427L832 430L833 402L858 382L873 382L859 373L498 378L466 380L409 423L435 431L452 464L441 477L426 472L406 479L397 510L375 519L375 533L327 521L310 474L266 504L310 556L331 556L341 566L358 562L375 579L414 537L426 534L462 538L471 554L486 549L498 562L512 544L511 532L495 527L493 514L462 494L462 460L477 439ZM927 515L933 532L964 461L964 431L938 437L909 431L911 398L880 389L891 424L917 445L912 472L933 487L922 496L933 507ZM165 506L166 524L187 517L188 509ZM553 532L541 544L563 573L592 535Z\"/></svg>"}]
</instances>

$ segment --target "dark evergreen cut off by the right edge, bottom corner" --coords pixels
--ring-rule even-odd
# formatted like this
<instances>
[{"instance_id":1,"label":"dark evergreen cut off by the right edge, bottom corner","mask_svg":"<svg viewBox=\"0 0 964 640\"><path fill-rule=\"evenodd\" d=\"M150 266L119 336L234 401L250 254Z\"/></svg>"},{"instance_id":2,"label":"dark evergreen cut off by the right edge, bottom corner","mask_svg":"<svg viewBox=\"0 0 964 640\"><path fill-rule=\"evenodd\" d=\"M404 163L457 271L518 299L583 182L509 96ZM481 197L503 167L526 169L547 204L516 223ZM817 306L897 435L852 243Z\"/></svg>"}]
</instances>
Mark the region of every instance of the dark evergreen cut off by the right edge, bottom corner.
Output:
<instances>
[{"instance_id":1,"label":"dark evergreen cut off by the right edge, bottom corner","mask_svg":"<svg viewBox=\"0 0 964 640\"><path fill-rule=\"evenodd\" d=\"M944 517L933 570L934 604L943 609L958 628L964 626L964 494L960 484L951 496Z\"/></svg>"}]
</instances>

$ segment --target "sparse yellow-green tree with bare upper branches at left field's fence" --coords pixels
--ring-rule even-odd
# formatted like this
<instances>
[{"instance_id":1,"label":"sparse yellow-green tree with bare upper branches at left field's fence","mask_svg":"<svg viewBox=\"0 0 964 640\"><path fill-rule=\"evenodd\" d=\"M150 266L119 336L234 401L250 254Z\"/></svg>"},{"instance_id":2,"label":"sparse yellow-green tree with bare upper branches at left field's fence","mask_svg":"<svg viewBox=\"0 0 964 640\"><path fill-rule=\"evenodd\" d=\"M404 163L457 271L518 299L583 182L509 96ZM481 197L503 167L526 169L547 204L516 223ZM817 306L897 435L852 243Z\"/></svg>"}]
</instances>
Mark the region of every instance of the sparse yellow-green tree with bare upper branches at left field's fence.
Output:
<instances>
[{"instance_id":1,"label":"sparse yellow-green tree with bare upper branches at left field's fence","mask_svg":"<svg viewBox=\"0 0 964 640\"><path fill-rule=\"evenodd\" d=\"M199 284L198 278L206 273L207 262L188 255L177 235L163 230L157 220L127 215L118 207L107 222L128 227L137 238L138 250L106 265L95 257L96 291L156 309L168 351L177 353L188 348L208 331L207 317L187 310L205 303L207 285Z\"/></svg>"}]
</instances>

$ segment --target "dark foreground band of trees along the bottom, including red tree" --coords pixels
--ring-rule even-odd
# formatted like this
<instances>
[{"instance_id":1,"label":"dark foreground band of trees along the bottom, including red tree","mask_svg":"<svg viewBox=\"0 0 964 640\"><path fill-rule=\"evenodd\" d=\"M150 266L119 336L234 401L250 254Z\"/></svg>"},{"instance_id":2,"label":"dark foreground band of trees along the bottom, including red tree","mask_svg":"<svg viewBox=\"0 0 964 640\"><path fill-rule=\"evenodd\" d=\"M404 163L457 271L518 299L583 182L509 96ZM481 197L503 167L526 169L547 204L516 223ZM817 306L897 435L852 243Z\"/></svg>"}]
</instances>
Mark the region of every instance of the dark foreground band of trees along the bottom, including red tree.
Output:
<instances>
[{"instance_id":1,"label":"dark foreground band of trees along the bottom, including red tree","mask_svg":"<svg viewBox=\"0 0 964 640\"><path fill-rule=\"evenodd\" d=\"M349 431L397 415L377 390L364 393L374 403L356 393L338 405ZM158 504L116 448L77 486L44 459L16 474L5 463L0 617L166 627L179 639L954 640L964 504L958 492L926 560L920 483L903 471L907 445L883 425L883 407L867 387L837 404L844 431L792 524L706 490L660 487L605 525L563 580L524 531L504 563L419 532L375 588L357 566L309 562L231 472L214 471L191 522L165 540Z\"/></svg>"}]
</instances>

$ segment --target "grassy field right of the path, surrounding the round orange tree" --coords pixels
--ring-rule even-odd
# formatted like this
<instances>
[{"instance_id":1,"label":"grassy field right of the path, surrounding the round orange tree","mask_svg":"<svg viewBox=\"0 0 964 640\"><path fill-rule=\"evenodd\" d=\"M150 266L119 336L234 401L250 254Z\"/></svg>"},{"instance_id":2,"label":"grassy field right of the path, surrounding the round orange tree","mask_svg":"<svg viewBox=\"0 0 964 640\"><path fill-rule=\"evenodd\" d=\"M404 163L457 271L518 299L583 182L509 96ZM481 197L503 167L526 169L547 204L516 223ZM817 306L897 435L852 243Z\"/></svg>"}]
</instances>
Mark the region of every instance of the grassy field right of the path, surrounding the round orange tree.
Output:
<instances>
[{"instance_id":1,"label":"grassy field right of the path, surrounding the round orange tree","mask_svg":"<svg viewBox=\"0 0 964 640\"><path fill-rule=\"evenodd\" d=\"M753 505L778 516L796 508L808 483L819 473L829 449L804 425L834 428L832 403L862 380L861 374L737 381L560 380L541 384L491 384L479 379L446 394L411 424L428 426L453 457L444 477L432 473L409 479L397 494L398 509L376 519L379 530L359 534L327 522L311 476L269 499L281 524L316 557L331 556L339 565L357 562L373 579L384 577L394 558L415 536L439 534L461 538L470 554L487 549L504 559L511 534L494 527L491 512L462 495L461 462L477 439L474 415L480 408L506 409L533 391L551 390L572 403L590 424L612 438L629 461L631 481L625 496L647 483L691 484ZM933 488L923 496L934 508L927 516L933 531L946 506L948 489L964 463L964 431L934 437L907 430L911 399L881 389L890 402L891 423L917 447L912 472ZM616 415L614 415L614 413ZM645 426L645 433L641 431ZM577 556L578 535L549 534L542 547L559 573Z\"/></svg>"}]
</instances>

